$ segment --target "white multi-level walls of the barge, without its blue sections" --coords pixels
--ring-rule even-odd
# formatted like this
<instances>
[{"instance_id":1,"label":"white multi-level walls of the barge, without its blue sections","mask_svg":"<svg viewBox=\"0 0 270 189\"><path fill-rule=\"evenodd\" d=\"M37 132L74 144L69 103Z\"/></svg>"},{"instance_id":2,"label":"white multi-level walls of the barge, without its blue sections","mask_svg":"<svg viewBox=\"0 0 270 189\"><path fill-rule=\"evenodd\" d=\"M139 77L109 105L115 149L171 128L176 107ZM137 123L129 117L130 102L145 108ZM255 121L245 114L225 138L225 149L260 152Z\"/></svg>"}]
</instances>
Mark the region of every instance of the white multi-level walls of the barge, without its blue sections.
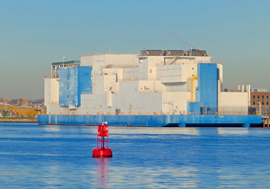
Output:
<instances>
[{"instance_id":1,"label":"white multi-level walls of the barge, without its blue sections","mask_svg":"<svg viewBox=\"0 0 270 189\"><path fill-rule=\"evenodd\" d=\"M195 51L198 50L188 52ZM80 94L80 106L60 106L59 78L46 77L47 114L188 114L187 102L196 99L198 63L217 64L219 105L224 107L238 102L237 105L247 109L247 93L220 95L223 64L211 61L211 55L201 51L196 56L192 53L169 55L168 51L160 55L152 55L151 50L142 52L81 55L80 66L92 68L89 81L92 89Z\"/></svg>"}]
</instances>

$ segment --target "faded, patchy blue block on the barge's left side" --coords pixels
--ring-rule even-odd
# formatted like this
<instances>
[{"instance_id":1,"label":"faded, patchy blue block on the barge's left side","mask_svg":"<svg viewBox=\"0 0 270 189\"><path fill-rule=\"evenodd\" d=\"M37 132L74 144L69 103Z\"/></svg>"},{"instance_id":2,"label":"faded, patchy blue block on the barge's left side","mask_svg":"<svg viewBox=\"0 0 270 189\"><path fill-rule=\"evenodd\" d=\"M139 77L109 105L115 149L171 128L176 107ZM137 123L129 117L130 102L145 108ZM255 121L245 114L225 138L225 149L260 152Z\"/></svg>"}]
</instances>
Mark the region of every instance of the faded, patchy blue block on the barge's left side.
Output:
<instances>
[{"instance_id":1,"label":"faded, patchy blue block on the barge's left side","mask_svg":"<svg viewBox=\"0 0 270 189\"><path fill-rule=\"evenodd\" d=\"M92 92L91 66L59 68L59 105L80 106L82 92Z\"/></svg>"}]
</instances>

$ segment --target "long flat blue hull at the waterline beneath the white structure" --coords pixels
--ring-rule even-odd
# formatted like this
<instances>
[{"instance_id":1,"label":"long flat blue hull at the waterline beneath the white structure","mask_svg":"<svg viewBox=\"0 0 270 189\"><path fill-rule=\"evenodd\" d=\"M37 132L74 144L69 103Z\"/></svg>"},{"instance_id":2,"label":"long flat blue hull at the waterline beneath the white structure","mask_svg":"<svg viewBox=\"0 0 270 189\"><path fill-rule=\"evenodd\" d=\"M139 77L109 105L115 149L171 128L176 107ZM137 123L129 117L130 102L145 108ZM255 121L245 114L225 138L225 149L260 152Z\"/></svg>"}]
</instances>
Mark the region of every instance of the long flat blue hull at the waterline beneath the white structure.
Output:
<instances>
[{"instance_id":1,"label":"long flat blue hull at the waterline beneath the white structure","mask_svg":"<svg viewBox=\"0 0 270 189\"><path fill-rule=\"evenodd\" d=\"M255 127L259 115L38 115L39 125L98 125L152 127Z\"/></svg>"}]
</instances>

